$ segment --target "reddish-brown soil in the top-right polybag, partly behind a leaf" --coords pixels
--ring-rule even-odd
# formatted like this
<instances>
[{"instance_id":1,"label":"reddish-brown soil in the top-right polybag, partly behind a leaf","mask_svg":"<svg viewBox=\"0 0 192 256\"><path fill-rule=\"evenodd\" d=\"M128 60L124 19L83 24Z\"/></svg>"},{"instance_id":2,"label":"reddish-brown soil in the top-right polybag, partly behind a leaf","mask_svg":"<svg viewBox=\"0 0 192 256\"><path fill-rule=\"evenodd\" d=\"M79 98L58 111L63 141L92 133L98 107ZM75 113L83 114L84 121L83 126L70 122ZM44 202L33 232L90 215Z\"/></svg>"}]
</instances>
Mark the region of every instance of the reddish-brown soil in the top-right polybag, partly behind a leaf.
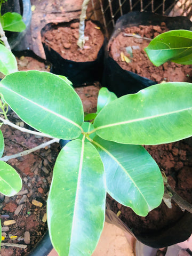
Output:
<instances>
[{"instance_id":1,"label":"reddish-brown soil in the top-right polybag, partly behind a leaf","mask_svg":"<svg viewBox=\"0 0 192 256\"><path fill-rule=\"evenodd\" d=\"M159 67L155 67L153 63L150 62L147 53L144 50L150 41L134 37L136 34L141 37L153 39L165 31L168 31L168 29L164 22L162 22L161 26L151 25L126 28L111 41L109 45L109 54L123 69L151 79L157 83L191 82L192 70L190 65L180 65L169 61ZM129 36L126 36L127 34ZM132 56L127 53L127 46L132 47ZM130 63L122 61L121 53L130 59Z\"/></svg>"}]
</instances>

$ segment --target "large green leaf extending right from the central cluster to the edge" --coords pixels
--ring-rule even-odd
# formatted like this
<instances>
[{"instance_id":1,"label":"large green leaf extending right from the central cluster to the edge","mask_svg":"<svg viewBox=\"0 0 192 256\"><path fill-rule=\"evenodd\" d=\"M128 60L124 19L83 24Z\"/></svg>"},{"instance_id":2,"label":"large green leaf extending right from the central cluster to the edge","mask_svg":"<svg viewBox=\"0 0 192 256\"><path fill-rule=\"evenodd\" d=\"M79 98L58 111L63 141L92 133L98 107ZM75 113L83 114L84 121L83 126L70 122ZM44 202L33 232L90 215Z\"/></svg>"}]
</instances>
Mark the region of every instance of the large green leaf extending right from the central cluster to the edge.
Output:
<instances>
[{"instance_id":1,"label":"large green leaf extending right from the central cluster to the edge","mask_svg":"<svg viewBox=\"0 0 192 256\"><path fill-rule=\"evenodd\" d=\"M192 135L192 84L163 83L110 102L93 123L105 140L156 145Z\"/></svg>"}]
</instances>

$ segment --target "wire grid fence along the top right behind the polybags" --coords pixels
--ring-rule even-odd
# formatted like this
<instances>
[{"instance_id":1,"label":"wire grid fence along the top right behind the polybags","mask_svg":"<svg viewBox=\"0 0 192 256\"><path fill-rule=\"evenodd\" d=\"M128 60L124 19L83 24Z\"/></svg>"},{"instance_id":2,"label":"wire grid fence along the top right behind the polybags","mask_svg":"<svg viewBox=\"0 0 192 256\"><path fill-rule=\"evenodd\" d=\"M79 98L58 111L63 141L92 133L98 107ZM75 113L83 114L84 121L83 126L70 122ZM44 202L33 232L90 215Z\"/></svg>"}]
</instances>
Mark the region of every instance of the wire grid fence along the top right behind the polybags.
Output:
<instances>
[{"instance_id":1,"label":"wire grid fence along the top right behind the polybags","mask_svg":"<svg viewBox=\"0 0 192 256\"><path fill-rule=\"evenodd\" d=\"M192 20L191 0L91 0L91 9L90 17L102 23L108 36L116 20L132 11L149 11L171 17L187 16Z\"/></svg>"}]
</instances>

